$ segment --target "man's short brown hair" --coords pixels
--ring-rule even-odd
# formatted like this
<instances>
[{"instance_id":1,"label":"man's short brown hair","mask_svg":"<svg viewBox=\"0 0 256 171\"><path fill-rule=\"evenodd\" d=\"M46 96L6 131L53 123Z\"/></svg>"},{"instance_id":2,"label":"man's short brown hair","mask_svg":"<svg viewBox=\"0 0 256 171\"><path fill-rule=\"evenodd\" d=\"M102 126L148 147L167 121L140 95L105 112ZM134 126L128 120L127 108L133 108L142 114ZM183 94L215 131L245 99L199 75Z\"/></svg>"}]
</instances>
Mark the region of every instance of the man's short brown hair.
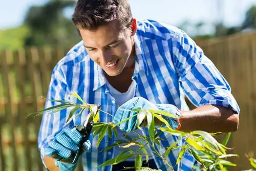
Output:
<instances>
[{"instance_id":1,"label":"man's short brown hair","mask_svg":"<svg viewBox=\"0 0 256 171\"><path fill-rule=\"evenodd\" d=\"M78 0L72 20L79 29L95 30L117 19L120 27L132 25L132 12L128 0Z\"/></svg>"}]
</instances>

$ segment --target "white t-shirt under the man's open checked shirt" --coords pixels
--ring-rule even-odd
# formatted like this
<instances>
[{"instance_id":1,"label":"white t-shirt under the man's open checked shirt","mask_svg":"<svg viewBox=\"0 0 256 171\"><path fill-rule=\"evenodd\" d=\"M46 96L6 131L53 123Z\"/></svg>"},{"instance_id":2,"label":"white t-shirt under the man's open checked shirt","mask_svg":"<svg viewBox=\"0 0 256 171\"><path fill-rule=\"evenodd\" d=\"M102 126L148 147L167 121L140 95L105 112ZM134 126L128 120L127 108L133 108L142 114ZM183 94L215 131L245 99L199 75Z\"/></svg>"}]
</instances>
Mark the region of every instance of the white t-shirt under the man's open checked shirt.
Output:
<instances>
[{"instance_id":1,"label":"white t-shirt under the man's open checked shirt","mask_svg":"<svg viewBox=\"0 0 256 171\"><path fill-rule=\"evenodd\" d=\"M126 101L128 101L128 100L130 100L130 99L132 99L134 96L135 96L135 81L133 80L132 81L132 83L131 83L131 85L130 85L130 87L129 87L129 89L126 91L126 92L124 92L124 93L121 93L121 92L119 92L119 91L117 91L115 88L113 88L112 86L111 86L111 84L108 82L108 81L106 81L106 83L107 83L107 85L108 85L108 87L109 87L109 90L110 90L110 94L115 98L115 100L116 100L116 104L118 105L118 106L121 106L123 103L125 103ZM138 133L138 134L140 134L141 136L143 136L143 134L142 134L142 132L138 129L138 130L136 130L136 132ZM127 140L127 139L125 139L124 137L123 137L123 134L127 134L126 132L123 132L123 131L121 131L120 129L119 129L119 127L117 127L117 137L118 137L118 140ZM134 132L130 132L130 133L128 133L127 135L129 135L129 137L131 137L132 139L134 139L134 138L138 138L139 136L136 134L136 133L134 133ZM124 144L122 144L122 145L124 145ZM138 149L138 146L131 146L130 148L133 148L133 149ZM119 147L115 147L114 148L114 157L116 157L118 154L120 154L120 152L122 152L123 151L123 148L119 148ZM152 159L153 157L151 157L151 151L147 151L147 153L148 153L148 155L149 155L149 159ZM143 160L145 160L145 156L144 155L142 155L143 156ZM136 157L136 156L135 156ZM132 158L129 158L129 159L127 159L127 161L134 161L135 160L135 157L132 157Z\"/></svg>"}]
</instances>

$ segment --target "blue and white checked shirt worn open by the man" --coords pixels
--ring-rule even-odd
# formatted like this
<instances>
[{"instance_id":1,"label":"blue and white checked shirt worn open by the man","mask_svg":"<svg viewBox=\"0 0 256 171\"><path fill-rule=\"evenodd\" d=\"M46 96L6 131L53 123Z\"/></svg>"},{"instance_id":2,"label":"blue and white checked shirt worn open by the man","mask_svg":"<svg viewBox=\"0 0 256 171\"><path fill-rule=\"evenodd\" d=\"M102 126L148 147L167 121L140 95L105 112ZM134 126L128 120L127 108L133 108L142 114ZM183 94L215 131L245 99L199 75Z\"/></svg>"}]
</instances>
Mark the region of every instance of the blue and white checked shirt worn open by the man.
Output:
<instances>
[{"instance_id":1,"label":"blue and white checked shirt worn open by the man","mask_svg":"<svg viewBox=\"0 0 256 171\"><path fill-rule=\"evenodd\" d=\"M195 42L182 30L156 22L154 20L138 21L138 31L133 37L136 48L135 72L132 79L136 82L135 96L142 96L154 103L174 104L180 110L187 110L184 94L196 106L204 104L223 105L240 112L236 100L230 93L230 87L214 64L204 55ZM90 59L83 42L74 46L55 66L49 86L48 99L79 101L68 96L77 93L88 103L100 103L101 110L112 115L117 110L115 99L111 96L102 69ZM57 105L47 101L46 108ZM65 127L80 124L86 119L88 111L73 117L65 123L71 109L62 110L53 115L42 117L38 135L38 147L41 157L44 148L51 143L54 135ZM100 113L101 122L112 122L113 117ZM147 134L147 130L145 130ZM156 148L163 156L165 149L179 139L176 136L161 134L161 145ZM92 141L92 152L82 155L84 170L111 170L112 166L98 168L106 160L113 157L113 148L102 151L114 143L106 135L96 149L96 138ZM181 145L183 142L179 142ZM188 153L181 163L176 165L180 149L172 151L167 161L174 170L191 170L195 159ZM159 157L154 160L162 170L170 170ZM44 161L43 161L44 163Z\"/></svg>"}]
</instances>

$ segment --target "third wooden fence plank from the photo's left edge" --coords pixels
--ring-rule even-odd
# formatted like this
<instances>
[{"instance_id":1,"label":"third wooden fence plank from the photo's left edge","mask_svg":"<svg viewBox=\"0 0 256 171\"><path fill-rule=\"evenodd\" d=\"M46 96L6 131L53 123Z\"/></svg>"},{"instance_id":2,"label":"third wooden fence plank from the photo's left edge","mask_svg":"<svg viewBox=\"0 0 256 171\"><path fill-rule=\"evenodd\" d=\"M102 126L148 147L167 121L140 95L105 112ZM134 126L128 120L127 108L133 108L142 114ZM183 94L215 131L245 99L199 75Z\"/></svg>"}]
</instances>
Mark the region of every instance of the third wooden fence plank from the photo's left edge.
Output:
<instances>
[{"instance_id":1,"label":"third wooden fence plank from the photo's left edge","mask_svg":"<svg viewBox=\"0 0 256 171\"><path fill-rule=\"evenodd\" d=\"M38 76L38 72L36 71L34 63L39 60L38 56L38 50L37 48L31 48L27 51L27 63L28 63L28 70L30 74L30 83L32 86L32 98L34 99L33 102L33 111L39 111L40 106L38 103L38 97L41 95L39 87L41 87L41 82ZM35 132L39 132L39 125L40 125L40 117L35 117L34 118L34 123L35 123ZM42 162L40 159L40 153L37 150L37 168L38 170L42 170Z\"/></svg>"}]
</instances>

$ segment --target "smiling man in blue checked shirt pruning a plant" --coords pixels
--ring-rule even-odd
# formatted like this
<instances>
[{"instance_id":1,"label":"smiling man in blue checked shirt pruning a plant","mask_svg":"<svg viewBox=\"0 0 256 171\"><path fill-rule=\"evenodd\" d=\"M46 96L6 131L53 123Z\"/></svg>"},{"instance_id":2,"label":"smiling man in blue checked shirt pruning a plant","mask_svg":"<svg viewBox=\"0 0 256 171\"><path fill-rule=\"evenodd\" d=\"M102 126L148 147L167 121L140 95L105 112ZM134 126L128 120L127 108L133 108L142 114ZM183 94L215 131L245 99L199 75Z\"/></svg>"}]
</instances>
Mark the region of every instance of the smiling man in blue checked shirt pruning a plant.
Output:
<instances>
[{"instance_id":1,"label":"smiling man in blue checked shirt pruning a plant","mask_svg":"<svg viewBox=\"0 0 256 171\"><path fill-rule=\"evenodd\" d=\"M179 119L165 117L175 130L238 129L240 109L227 81L182 30L154 20L136 21L127 0L78 0L72 19L82 41L54 68L48 99L77 102L68 96L77 93L88 103L101 104L102 111L114 116L100 113L101 122L118 123L136 114L129 110L141 108L176 115ZM197 106L195 110L186 108L183 93ZM57 104L47 101L46 108ZM38 147L49 170L73 170L77 166L58 161L77 149L81 135L73 127L88 114L86 111L66 123L70 110L42 117ZM136 119L130 119L121 124L118 134L127 132L135 138L131 131L137 129L136 123ZM165 134L160 137L167 140L156 146L161 155L163 147L179 138ZM87 153L81 155L83 169L118 170L134 165L133 158L119 165L98 167L121 152L119 148L107 153L102 150L119 138L106 135L97 149L97 138L91 135L84 144ZM182 165L176 165L179 151L172 151L167 162L174 170L191 170L196 162L188 154ZM150 150L148 153L151 168L170 169Z\"/></svg>"}]
</instances>

